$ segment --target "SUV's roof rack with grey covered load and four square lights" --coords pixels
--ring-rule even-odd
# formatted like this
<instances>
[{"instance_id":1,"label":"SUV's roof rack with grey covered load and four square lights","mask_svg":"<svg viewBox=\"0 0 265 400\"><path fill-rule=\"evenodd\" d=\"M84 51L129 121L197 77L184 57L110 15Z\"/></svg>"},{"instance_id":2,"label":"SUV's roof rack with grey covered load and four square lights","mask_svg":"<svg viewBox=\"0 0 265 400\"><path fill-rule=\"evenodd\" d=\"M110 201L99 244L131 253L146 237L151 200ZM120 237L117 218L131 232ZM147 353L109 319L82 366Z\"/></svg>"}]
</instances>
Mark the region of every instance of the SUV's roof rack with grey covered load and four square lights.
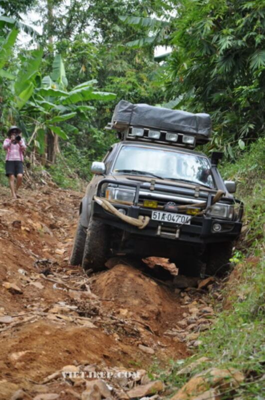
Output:
<instances>
[{"instance_id":1,"label":"SUV's roof rack with grey covered load and four square lights","mask_svg":"<svg viewBox=\"0 0 265 400\"><path fill-rule=\"evenodd\" d=\"M209 114L132 104L121 100L107 129L119 132L121 140L151 141L194 148L210 140Z\"/></svg>"}]
</instances>

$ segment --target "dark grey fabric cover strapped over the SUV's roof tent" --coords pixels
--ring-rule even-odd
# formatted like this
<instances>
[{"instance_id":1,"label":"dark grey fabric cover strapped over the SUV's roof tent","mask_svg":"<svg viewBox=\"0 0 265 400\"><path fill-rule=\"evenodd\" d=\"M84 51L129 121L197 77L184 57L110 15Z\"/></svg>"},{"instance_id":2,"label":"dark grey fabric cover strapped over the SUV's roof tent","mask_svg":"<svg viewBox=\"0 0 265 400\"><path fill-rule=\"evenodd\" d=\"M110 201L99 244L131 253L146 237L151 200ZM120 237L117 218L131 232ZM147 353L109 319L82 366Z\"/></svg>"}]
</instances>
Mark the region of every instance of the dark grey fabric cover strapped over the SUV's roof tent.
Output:
<instances>
[{"instance_id":1,"label":"dark grey fabric cover strapped over the SUV's roof tent","mask_svg":"<svg viewBox=\"0 0 265 400\"><path fill-rule=\"evenodd\" d=\"M209 114L193 114L148 104L132 104L126 100L121 100L116 105L111 123L112 127L118 130L132 125L206 137L210 137L212 125Z\"/></svg>"}]
</instances>

